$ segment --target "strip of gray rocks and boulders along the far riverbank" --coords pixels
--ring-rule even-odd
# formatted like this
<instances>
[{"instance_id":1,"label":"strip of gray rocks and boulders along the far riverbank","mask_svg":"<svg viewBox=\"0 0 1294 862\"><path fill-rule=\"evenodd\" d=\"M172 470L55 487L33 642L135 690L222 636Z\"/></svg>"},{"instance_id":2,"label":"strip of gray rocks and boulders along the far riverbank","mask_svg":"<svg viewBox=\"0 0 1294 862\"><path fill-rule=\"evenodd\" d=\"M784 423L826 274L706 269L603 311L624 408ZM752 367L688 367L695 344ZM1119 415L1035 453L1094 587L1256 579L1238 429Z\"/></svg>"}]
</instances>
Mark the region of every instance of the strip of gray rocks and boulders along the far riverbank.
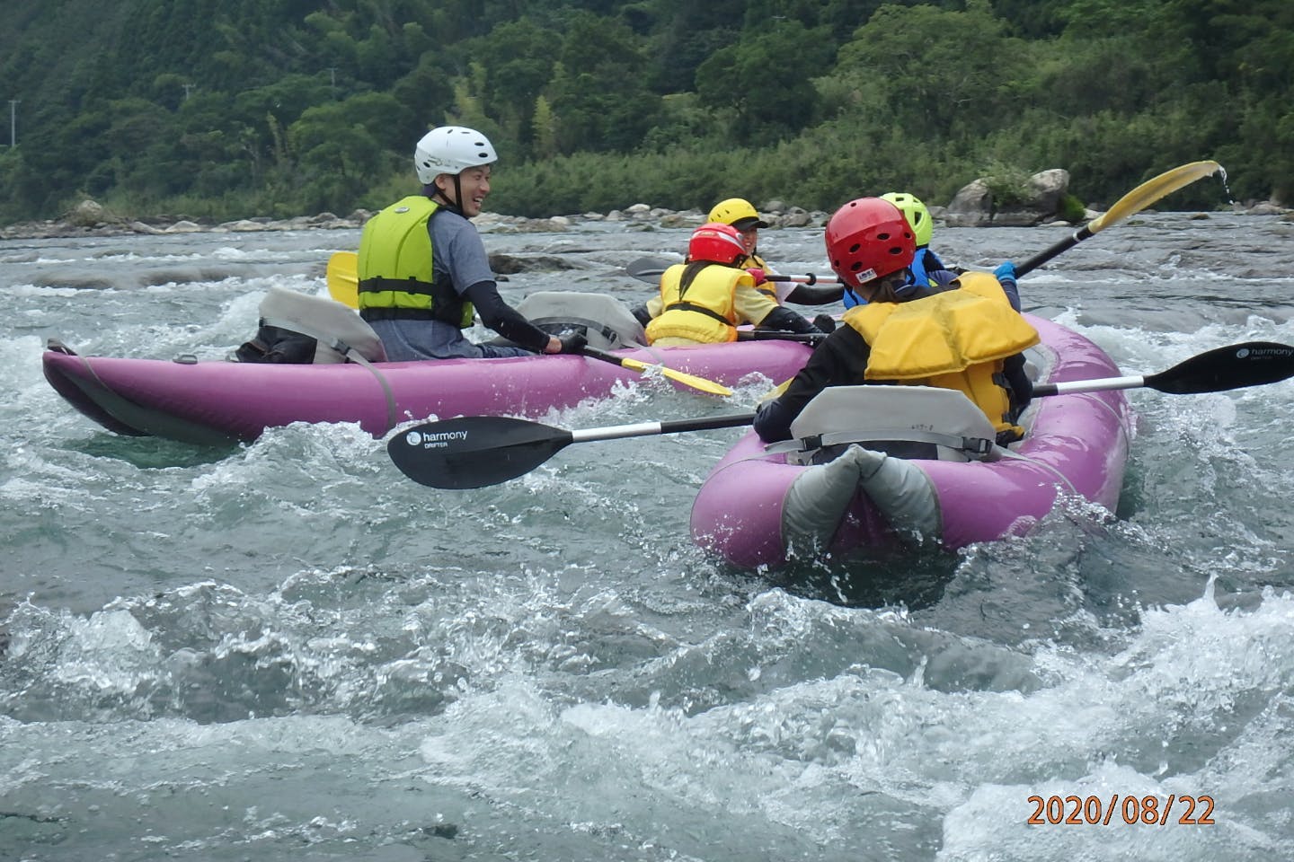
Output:
<instances>
[{"instance_id":1,"label":"strip of gray rocks and boulders along the far riverbank","mask_svg":"<svg viewBox=\"0 0 1294 862\"><path fill-rule=\"evenodd\" d=\"M967 184L954 196L947 207L930 205L932 217L952 227L1029 227L1057 220L1062 209L1062 199L1069 190L1069 172L1052 168L1033 174L1022 194L1012 203L999 203L994 199L992 184L980 178ZM1275 202L1233 203L1236 212L1255 215L1284 215L1294 218L1294 211ZM770 227L820 227L827 224L831 213L806 211L787 205L782 200L767 200L760 212ZM1082 208L1082 220L1091 221L1100 209ZM356 209L348 216L322 212L316 216L296 216L292 218L239 218L221 224L198 224L186 218L123 218L109 212L94 200L83 200L62 218L47 221L19 222L0 227L0 239L48 239L66 237L111 237L120 234L193 234L193 233L259 233L268 230L356 230L364 226L373 213ZM1078 215L1077 211L1073 215ZM551 216L547 218L525 218L520 216L501 216L484 212L474 221L483 233L562 233L577 230L581 222L622 224L630 230L655 230L669 227L695 227L705 220L705 213L696 209L675 211L638 203L625 209L608 213L581 213L576 216Z\"/></svg>"}]
</instances>

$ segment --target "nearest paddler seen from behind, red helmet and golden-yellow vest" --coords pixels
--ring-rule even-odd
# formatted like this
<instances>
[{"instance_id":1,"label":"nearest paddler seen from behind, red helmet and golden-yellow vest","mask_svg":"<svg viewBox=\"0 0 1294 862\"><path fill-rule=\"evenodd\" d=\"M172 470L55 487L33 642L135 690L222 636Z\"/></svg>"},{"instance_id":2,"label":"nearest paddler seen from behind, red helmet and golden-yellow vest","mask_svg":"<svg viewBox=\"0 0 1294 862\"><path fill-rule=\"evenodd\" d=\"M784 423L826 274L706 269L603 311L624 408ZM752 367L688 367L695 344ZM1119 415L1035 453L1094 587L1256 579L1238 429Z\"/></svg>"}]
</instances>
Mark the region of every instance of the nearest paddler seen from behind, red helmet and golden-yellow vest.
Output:
<instances>
[{"instance_id":1,"label":"nearest paddler seen from behind, red helmet and golden-yellow vest","mask_svg":"<svg viewBox=\"0 0 1294 862\"><path fill-rule=\"evenodd\" d=\"M1020 439L1016 421L1033 395L1021 352L1039 339L1008 297L1014 266L998 268L1004 280L964 273L946 287L908 284L915 237L903 213L880 198L841 207L826 243L832 270L866 304L845 311L785 390L761 405L760 437L788 439L791 423L827 386L901 384L960 390L992 423L999 445Z\"/></svg>"}]
</instances>

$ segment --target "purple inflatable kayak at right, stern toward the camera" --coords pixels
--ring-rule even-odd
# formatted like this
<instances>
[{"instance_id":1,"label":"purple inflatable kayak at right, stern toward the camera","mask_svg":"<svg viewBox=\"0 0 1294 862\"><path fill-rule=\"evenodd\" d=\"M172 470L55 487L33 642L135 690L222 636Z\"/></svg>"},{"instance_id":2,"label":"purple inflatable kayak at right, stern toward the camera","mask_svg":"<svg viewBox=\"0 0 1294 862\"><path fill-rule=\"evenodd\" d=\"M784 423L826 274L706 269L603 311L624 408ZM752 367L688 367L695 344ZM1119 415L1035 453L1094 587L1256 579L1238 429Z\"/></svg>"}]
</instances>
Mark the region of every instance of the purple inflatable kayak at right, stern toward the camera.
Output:
<instances>
[{"instance_id":1,"label":"purple inflatable kayak at right, stern toward the camera","mask_svg":"<svg viewBox=\"0 0 1294 862\"><path fill-rule=\"evenodd\" d=\"M1030 352L1036 383L1118 376L1114 362L1090 340L1051 321L1029 321L1042 336ZM848 389L871 390L872 397L932 392ZM872 405L866 415L884 412ZM801 553L894 548L914 535L950 549L1017 535L1062 494L1114 510L1132 436L1122 392L1035 398L1024 423L1025 439L991 460L902 459L864 443L831 463L801 465L791 463L795 454L788 460L787 452L766 452L751 432L701 486L692 538L738 566L774 567ZM890 439L886 433L880 438Z\"/></svg>"}]
</instances>

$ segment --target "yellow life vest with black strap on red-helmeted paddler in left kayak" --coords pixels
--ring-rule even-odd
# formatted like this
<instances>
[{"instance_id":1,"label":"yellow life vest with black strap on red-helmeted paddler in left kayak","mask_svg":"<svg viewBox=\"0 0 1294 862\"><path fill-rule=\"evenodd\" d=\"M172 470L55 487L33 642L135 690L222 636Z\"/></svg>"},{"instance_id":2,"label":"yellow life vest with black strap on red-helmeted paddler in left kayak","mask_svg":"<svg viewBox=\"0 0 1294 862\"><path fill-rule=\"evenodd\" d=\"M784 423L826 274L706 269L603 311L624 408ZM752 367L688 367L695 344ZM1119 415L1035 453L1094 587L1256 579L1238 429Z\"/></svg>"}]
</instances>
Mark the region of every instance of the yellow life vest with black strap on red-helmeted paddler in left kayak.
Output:
<instances>
[{"instance_id":1,"label":"yellow life vest with black strap on red-helmeted paddler in left kayak","mask_svg":"<svg viewBox=\"0 0 1294 862\"><path fill-rule=\"evenodd\" d=\"M647 324L647 342L657 339L688 339L700 344L736 341L734 302L738 284L743 283L754 283L745 270L701 261L674 264L660 277L661 313Z\"/></svg>"}]
</instances>

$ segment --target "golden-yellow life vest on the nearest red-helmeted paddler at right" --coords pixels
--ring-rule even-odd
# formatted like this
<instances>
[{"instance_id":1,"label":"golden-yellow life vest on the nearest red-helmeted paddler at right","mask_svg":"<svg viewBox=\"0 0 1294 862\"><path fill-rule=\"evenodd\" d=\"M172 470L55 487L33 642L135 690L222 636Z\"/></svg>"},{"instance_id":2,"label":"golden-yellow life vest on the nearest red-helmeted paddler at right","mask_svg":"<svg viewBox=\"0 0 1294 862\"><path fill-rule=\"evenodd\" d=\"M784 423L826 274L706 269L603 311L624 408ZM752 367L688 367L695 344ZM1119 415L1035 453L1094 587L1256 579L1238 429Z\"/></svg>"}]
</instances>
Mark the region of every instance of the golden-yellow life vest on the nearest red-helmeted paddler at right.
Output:
<instances>
[{"instance_id":1,"label":"golden-yellow life vest on the nearest red-helmeted paddler at right","mask_svg":"<svg viewBox=\"0 0 1294 862\"><path fill-rule=\"evenodd\" d=\"M871 346L864 376L959 389L998 432L1022 434L1011 423L1003 361L1038 344L1038 332L987 273L964 273L956 284L911 302L868 302L845 311L844 322Z\"/></svg>"}]
</instances>

